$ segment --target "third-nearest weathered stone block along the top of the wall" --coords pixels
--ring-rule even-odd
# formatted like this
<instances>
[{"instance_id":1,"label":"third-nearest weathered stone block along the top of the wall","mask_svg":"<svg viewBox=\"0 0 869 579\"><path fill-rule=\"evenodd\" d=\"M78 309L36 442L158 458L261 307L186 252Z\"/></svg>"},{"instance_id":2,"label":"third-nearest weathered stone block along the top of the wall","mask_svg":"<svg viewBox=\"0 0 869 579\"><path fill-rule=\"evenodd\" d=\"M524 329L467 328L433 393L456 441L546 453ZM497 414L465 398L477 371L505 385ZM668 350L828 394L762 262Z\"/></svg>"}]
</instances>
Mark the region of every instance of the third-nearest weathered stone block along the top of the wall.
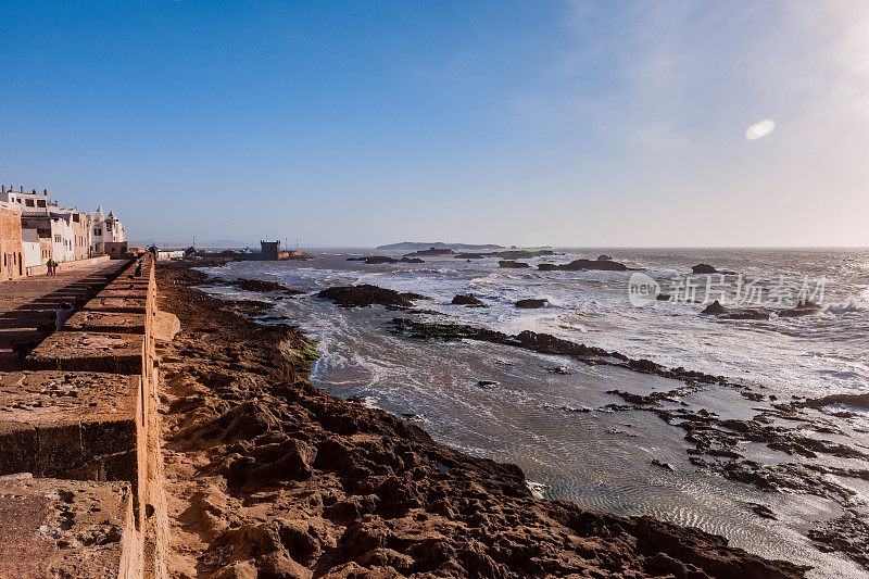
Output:
<instances>
[{"instance_id":1,"label":"third-nearest weathered stone block along the top of the wall","mask_svg":"<svg viewBox=\"0 0 869 579\"><path fill-rule=\"evenodd\" d=\"M134 333L59 331L26 358L26 369L63 369L141 374L144 337Z\"/></svg>"}]
</instances>

